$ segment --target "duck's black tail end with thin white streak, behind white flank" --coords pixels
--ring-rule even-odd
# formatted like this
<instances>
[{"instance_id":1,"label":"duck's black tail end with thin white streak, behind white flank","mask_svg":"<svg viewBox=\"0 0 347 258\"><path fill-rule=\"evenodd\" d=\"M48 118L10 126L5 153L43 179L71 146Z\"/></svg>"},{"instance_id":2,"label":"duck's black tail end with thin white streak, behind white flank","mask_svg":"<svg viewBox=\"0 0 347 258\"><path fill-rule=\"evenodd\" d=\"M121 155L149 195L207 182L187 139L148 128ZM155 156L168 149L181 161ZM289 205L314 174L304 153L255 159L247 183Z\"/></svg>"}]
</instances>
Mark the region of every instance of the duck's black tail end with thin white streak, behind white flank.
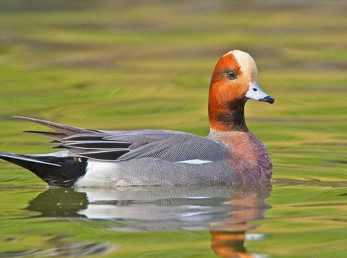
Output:
<instances>
[{"instance_id":1,"label":"duck's black tail end with thin white streak, behind white flank","mask_svg":"<svg viewBox=\"0 0 347 258\"><path fill-rule=\"evenodd\" d=\"M0 151L0 158L30 170L51 186L70 187L86 173L86 158L54 154L19 155Z\"/></svg>"}]
</instances>

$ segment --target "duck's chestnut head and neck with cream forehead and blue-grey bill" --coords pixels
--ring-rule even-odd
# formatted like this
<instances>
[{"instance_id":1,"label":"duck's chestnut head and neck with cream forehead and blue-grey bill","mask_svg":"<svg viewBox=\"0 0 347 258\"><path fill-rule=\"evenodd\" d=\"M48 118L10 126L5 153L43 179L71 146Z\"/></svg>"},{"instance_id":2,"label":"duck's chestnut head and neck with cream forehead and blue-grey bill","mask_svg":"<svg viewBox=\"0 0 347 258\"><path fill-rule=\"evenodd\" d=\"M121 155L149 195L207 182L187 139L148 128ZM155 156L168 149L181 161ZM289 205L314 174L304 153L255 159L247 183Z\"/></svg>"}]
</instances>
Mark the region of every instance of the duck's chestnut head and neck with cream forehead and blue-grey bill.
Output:
<instances>
[{"instance_id":1,"label":"duck's chestnut head and neck with cream forehead and blue-grey bill","mask_svg":"<svg viewBox=\"0 0 347 258\"><path fill-rule=\"evenodd\" d=\"M275 102L260 88L253 58L246 52L232 50L218 61L211 77L211 128L248 131L243 116L244 104L248 99L270 104Z\"/></svg>"}]
</instances>

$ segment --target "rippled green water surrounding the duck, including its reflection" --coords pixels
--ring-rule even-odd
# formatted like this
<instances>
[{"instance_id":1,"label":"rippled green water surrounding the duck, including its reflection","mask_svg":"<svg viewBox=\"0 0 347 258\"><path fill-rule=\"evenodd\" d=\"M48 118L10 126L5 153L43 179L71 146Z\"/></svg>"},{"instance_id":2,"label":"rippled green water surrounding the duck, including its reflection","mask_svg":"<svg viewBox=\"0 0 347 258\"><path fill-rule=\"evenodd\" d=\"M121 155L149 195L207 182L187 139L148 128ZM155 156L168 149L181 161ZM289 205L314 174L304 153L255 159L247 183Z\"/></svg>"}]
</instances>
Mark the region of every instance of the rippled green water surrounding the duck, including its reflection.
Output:
<instances>
[{"instance_id":1,"label":"rippled green water surrounding the duck, including its reflection","mask_svg":"<svg viewBox=\"0 0 347 258\"><path fill-rule=\"evenodd\" d=\"M208 133L217 60L249 52L273 105L245 117L274 164L252 188L47 188L0 161L0 257L347 257L346 1L2 1L0 150L24 115ZM318 17L318 18L317 18Z\"/></svg>"}]
</instances>

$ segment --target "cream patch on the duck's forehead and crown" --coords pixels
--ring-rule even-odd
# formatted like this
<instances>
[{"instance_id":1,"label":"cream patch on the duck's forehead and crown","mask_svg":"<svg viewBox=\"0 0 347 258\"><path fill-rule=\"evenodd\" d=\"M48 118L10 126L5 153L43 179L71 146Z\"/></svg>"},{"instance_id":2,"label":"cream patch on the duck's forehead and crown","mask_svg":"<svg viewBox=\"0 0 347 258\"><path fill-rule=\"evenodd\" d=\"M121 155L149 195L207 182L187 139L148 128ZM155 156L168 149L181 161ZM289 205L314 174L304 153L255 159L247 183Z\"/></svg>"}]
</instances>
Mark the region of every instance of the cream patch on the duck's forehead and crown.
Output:
<instances>
[{"instance_id":1,"label":"cream patch on the duck's forehead and crown","mask_svg":"<svg viewBox=\"0 0 347 258\"><path fill-rule=\"evenodd\" d=\"M240 50L232 50L228 52L226 55L232 54L240 66L243 76L249 82L257 82L258 81L258 69L255 64L253 58L246 52Z\"/></svg>"}]
</instances>

